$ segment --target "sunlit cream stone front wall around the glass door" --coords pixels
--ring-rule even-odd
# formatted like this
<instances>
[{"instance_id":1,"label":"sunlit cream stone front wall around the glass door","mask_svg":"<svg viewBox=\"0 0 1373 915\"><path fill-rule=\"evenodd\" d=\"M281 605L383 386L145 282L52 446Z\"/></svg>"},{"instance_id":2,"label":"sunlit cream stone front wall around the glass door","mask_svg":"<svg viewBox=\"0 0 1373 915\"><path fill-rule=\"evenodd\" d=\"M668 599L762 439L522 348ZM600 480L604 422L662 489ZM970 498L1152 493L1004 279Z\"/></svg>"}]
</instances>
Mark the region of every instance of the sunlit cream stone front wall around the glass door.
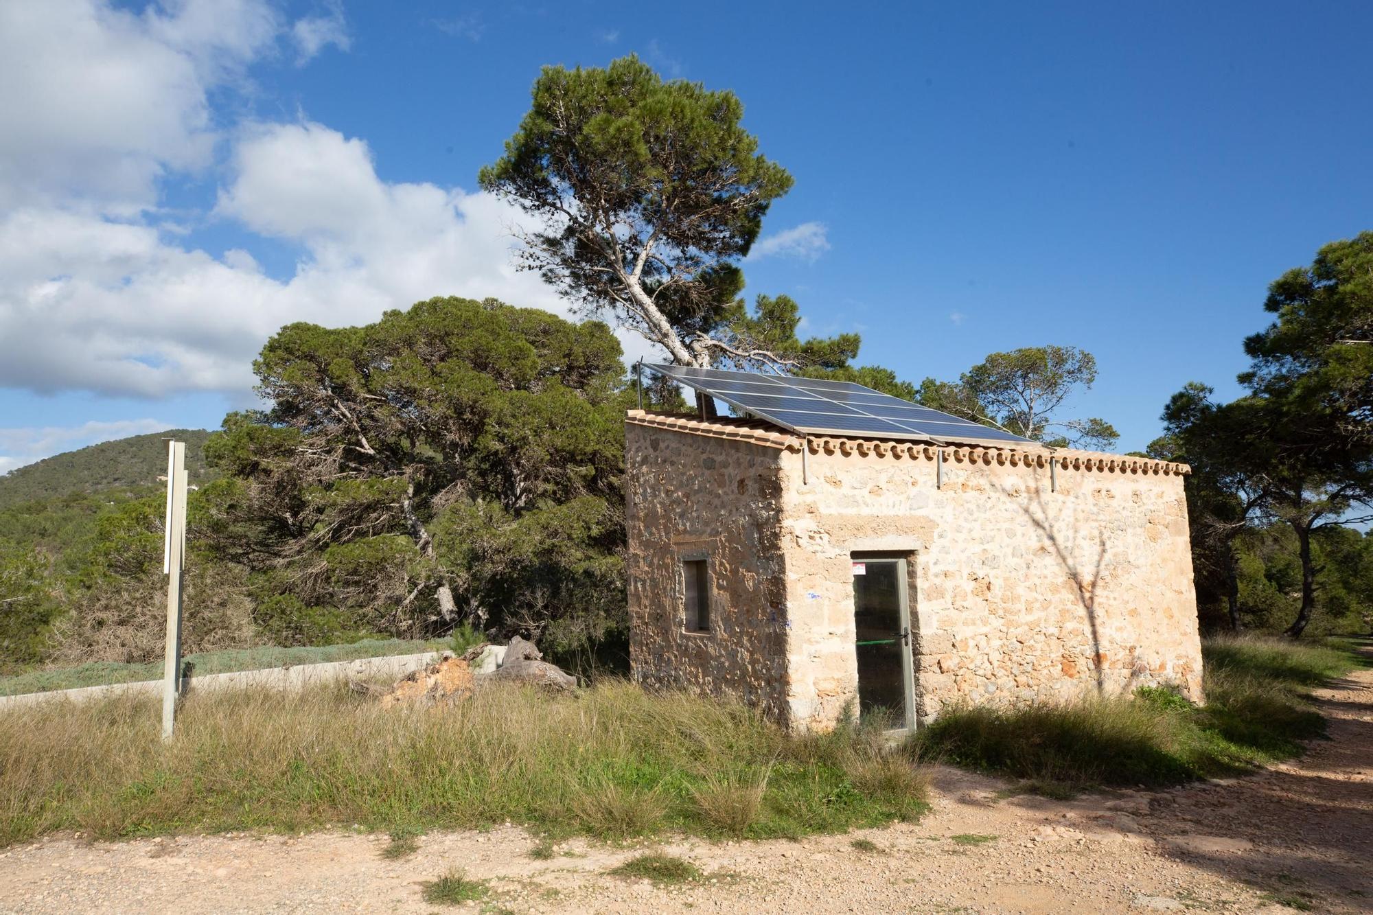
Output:
<instances>
[{"instance_id":1,"label":"sunlit cream stone front wall around the glass door","mask_svg":"<svg viewBox=\"0 0 1373 915\"><path fill-rule=\"evenodd\" d=\"M847 453L844 453L847 452ZM851 554L912 566L916 714L1175 684L1200 698L1185 468L846 440L783 458L791 717L857 706Z\"/></svg>"}]
</instances>

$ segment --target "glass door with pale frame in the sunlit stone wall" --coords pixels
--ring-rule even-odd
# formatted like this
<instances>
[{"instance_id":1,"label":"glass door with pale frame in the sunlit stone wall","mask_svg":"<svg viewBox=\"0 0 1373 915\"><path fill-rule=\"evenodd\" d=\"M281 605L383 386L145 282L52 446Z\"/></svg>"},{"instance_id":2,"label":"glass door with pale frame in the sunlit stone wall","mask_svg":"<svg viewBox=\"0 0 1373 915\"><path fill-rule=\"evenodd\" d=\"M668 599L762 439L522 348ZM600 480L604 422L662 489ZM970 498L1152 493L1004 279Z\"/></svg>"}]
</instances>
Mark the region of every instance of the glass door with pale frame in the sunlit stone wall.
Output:
<instances>
[{"instance_id":1,"label":"glass door with pale frame in the sunlit stone wall","mask_svg":"<svg viewBox=\"0 0 1373 915\"><path fill-rule=\"evenodd\" d=\"M905 559L853 558L858 712L914 727Z\"/></svg>"}]
</instances>

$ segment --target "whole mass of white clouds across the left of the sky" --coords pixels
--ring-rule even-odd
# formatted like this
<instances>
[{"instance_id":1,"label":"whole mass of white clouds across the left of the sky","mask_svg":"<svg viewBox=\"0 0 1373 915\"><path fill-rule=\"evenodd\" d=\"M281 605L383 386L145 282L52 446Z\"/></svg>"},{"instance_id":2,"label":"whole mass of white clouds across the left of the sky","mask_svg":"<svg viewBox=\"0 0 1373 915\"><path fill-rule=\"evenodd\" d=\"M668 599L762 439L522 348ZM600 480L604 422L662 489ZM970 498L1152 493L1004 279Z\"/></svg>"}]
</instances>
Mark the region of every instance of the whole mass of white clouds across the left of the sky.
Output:
<instances>
[{"instance_id":1,"label":"whole mass of white clouds across the left of the sky","mask_svg":"<svg viewBox=\"0 0 1373 915\"><path fill-rule=\"evenodd\" d=\"M242 400L253 357L288 321L367 323L432 295L566 313L512 265L515 207L384 181L364 140L319 124L217 122L216 87L283 36L299 41L284 29L265 0L140 14L0 0L0 387ZM158 212L163 179L216 163L217 148L214 212ZM206 216L280 239L299 253L294 271L265 272L251 242L195 249L188 227Z\"/></svg>"}]
</instances>

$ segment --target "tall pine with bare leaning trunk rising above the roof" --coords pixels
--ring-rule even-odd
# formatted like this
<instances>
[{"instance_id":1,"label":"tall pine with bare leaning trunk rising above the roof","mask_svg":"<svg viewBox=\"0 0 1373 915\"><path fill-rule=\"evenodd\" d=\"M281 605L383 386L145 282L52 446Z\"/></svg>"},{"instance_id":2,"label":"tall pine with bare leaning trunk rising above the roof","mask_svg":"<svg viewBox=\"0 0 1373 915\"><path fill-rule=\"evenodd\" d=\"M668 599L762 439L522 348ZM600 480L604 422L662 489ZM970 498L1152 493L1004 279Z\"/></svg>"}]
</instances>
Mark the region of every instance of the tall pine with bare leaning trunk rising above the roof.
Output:
<instances>
[{"instance_id":1,"label":"tall pine with bare leaning trunk rising above the roof","mask_svg":"<svg viewBox=\"0 0 1373 915\"><path fill-rule=\"evenodd\" d=\"M735 93L663 81L630 55L544 67L533 106L481 185L541 221L523 264L610 309L682 365L770 354L718 334L739 261L791 176L758 152Z\"/></svg>"}]
</instances>

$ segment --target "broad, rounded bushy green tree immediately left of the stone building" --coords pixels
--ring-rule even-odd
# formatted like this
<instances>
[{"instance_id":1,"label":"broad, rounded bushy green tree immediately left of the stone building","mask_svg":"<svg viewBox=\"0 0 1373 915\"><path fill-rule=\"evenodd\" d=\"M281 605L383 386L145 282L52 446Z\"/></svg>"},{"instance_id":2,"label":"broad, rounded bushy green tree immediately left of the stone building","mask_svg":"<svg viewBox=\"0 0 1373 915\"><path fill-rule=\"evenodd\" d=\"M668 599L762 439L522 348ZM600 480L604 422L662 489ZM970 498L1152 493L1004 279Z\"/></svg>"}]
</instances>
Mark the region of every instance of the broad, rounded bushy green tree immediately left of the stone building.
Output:
<instances>
[{"instance_id":1,"label":"broad, rounded bushy green tree immediately left of the stone building","mask_svg":"<svg viewBox=\"0 0 1373 915\"><path fill-rule=\"evenodd\" d=\"M400 633L608 625L622 603L619 343L494 300L365 327L290 324L254 364L261 412L206 456L207 534L279 615L343 607ZM573 637L568 635L568 637Z\"/></svg>"}]
</instances>

